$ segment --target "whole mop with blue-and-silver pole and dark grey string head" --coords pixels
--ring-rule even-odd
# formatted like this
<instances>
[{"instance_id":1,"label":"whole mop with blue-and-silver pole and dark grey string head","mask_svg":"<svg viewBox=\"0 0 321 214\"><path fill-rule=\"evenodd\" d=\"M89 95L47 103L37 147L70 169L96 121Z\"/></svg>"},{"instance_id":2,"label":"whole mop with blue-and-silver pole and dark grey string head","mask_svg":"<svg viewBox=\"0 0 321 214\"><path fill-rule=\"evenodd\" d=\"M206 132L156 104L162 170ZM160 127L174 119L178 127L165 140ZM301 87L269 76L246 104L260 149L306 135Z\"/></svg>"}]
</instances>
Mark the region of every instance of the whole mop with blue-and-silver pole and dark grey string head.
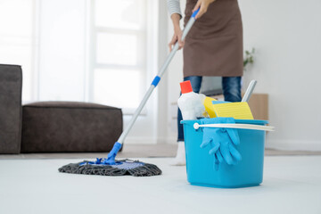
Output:
<instances>
[{"instance_id":1,"label":"whole mop with blue-and-silver pole and dark grey string head","mask_svg":"<svg viewBox=\"0 0 321 214\"><path fill-rule=\"evenodd\" d=\"M200 9L193 12L190 20L187 22L185 29L183 30L182 40L185 39L188 31L192 28L197 12ZM150 163L144 163L141 161L131 161L131 160L115 160L119 149L128 132L133 127L138 115L143 110L145 103L148 101L149 97L152 95L153 89L159 84L161 77L167 70L169 63L173 59L175 53L178 50L178 42L174 45L173 50L169 53L164 64L161 66L157 76L153 78L152 84L144 95L142 102L139 104L136 109L132 119L128 123L128 127L121 133L118 141L113 145L111 152L109 152L107 159L99 159L96 161L82 161L78 163L70 163L68 165L62 166L58 169L60 172L72 173L72 174L86 174L86 175L100 175L100 176L125 176L131 175L134 177L150 177L161 175L161 169L156 165Z\"/></svg>"}]
</instances>

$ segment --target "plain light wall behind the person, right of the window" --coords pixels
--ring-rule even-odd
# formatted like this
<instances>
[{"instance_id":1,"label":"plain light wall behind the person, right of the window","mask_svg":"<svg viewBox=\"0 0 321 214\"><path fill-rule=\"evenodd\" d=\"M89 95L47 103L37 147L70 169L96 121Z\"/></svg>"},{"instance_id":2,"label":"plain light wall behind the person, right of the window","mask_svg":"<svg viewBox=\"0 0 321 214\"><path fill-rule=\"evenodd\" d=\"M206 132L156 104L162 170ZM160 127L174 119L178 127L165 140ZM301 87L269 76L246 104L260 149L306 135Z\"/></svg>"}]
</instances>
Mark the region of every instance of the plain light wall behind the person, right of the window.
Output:
<instances>
[{"instance_id":1,"label":"plain light wall behind the person, right of the window","mask_svg":"<svg viewBox=\"0 0 321 214\"><path fill-rule=\"evenodd\" d=\"M185 1L181 1L184 5ZM285 150L321 150L321 1L239 1L244 48L256 49L244 85L257 79L257 93L269 95L269 121L276 132L267 146ZM169 20L169 38L172 36ZM169 66L169 141L177 137L171 103L182 79L182 53Z\"/></svg>"}]
</instances>

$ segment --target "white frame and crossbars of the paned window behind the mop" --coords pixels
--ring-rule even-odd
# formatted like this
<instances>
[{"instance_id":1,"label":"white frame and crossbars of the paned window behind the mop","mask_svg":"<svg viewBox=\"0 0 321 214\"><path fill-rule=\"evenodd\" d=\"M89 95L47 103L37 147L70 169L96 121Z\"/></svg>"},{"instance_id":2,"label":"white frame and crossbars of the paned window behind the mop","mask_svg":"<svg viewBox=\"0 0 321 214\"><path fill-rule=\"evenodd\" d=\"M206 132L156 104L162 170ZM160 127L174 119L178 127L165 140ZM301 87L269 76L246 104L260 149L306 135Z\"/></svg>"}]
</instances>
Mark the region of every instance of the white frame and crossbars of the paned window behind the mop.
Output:
<instances>
[{"instance_id":1,"label":"white frame and crossbars of the paned window behind the mop","mask_svg":"<svg viewBox=\"0 0 321 214\"><path fill-rule=\"evenodd\" d=\"M157 50L157 39L156 31L157 29L157 21L158 21L158 3L157 1L148 1L144 0L144 24L143 27L139 29L116 29L110 27L101 27L95 26L95 0L90 1L89 4L89 21L88 21L88 63L87 63L87 74L86 74L86 100L89 102L95 102L95 69L117 69L117 70L142 70L142 83L140 92L142 94L140 99L143 98L144 92L148 85L148 81L146 79L152 79L151 75L155 74L155 63L157 61L154 58L157 58L157 54L151 56L151 53L155 53L155 49ZM142 24L142 23L141 23ZM98 63L96 57L96 46L97 46L97 37L99 33L120 33L124 35L136 35L137 36L137 64L136 65L119 65L119 64L105 64ZM152 70L152 72L147 72L147 70ZM107 71L108 72L108 71ZM120 85L121 83L119 83ZM123 114L131 115L134 114L136 108L122 108ZM146 115L146 108L143 109L141 115Z\"/></svg>"}]
</instances>

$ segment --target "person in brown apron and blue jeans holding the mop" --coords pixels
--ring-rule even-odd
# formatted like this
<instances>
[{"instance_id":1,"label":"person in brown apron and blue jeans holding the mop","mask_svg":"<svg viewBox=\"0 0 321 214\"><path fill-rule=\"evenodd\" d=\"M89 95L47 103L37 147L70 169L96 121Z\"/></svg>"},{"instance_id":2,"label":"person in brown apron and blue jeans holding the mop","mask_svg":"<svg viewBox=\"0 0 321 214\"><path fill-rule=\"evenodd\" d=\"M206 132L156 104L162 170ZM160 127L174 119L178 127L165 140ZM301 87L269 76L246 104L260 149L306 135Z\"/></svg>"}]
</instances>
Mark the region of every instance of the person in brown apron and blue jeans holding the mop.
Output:
<instances>
[{"instance_id":1,"label":"person in brown apron and blue jeans holding the mop","mask_svg":"<svg viewBox=\"0 0 321 214\"><path fill-rule=\"evenodd\" d=\"M184 47L184 81L190 80L193 91L200 92L202 76L222 77L226 101L240 102L243 75L243 26L237 0L186 0L185 24L192 13L200 8L193 28L182 41L182 18L179 0L168 0L174 36L169 50L178 42ZM185 165L185 146L182 114L178 109L178 149L173 165Z\"/></svg>"}]
</instances>

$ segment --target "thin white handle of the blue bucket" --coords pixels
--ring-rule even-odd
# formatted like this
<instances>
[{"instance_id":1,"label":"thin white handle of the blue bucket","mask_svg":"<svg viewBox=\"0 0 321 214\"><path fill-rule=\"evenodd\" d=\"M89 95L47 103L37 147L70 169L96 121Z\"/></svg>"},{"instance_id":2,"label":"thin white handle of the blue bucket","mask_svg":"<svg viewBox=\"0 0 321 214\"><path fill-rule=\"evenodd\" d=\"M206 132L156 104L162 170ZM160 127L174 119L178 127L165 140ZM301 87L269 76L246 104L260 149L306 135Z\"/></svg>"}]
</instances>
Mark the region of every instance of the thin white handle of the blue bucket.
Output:
<instances>
[{"instance_id":1,"label":"thin white handle of the blue bucket","mask_svg":"<svg viewBox=\"0 0 321 214\"><path fill-rule=\"evenodd\" d=\"M270 126L235 124L235 123L218 123L218 124L204 124L204 125L194 123L193 128L195 128L196 130L198 128L240 128L240 129L251 129L251 130L261 130L261 131L274 131L274 127L270 127Z\"/></svg>"}]
</instances>

